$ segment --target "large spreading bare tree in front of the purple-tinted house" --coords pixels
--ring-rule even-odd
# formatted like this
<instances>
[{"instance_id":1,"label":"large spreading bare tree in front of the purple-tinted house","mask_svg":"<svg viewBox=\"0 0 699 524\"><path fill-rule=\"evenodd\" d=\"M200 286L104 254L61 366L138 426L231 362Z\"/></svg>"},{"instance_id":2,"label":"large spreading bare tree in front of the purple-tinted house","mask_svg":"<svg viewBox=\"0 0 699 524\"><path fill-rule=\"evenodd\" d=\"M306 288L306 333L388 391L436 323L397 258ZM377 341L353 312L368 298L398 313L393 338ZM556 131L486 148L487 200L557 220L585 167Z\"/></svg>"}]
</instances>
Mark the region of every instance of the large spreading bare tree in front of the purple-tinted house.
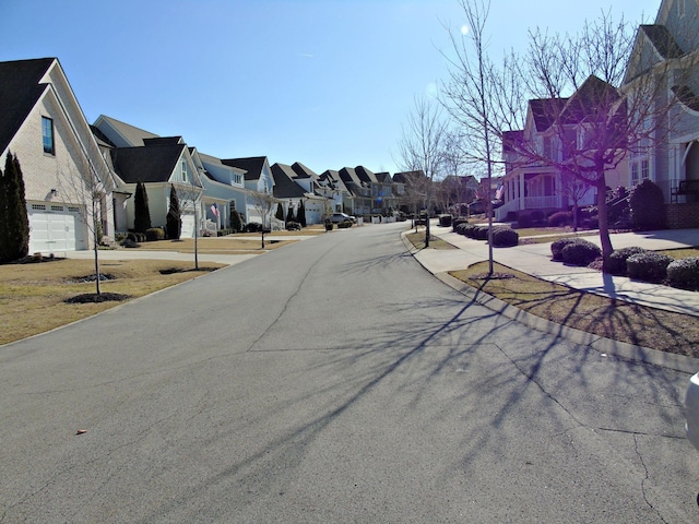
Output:
<instances>
[{"instance_id":1,"label":"large spreading bare tree in front of the purple-tinted house","mask_svg":"<svg viewBox=\"0 0 699 524\"><path fill-rule=\"evenodd\" d=\"M506 55L495 66L484 47L489 10L486 0L461 0L471 24L475 58L463 41L452 37L446 99L450 112L472 134L479 132L482 148L491 148L488 136L519 155L523 165L546 165L568 171L596 190L600 240L605 266L612 254L606 207L606 174L616 169L636 147L657 143L673 127L670 121L676 96L667 96L672 61L638 69L644 74L626 79L633 57L636 27L609 13L585 22L574 35L530 32L524 58ZM665 43L671 48L671 43ZM675 71L676 74L677 71ZM625 90L618 88L623 83ZM682 82L678 83L682 85ZM530 103L548 128L548 147L523 140L521 130ZM518 134L519 132L519 134Z\"/></svg>"}]
</instances>

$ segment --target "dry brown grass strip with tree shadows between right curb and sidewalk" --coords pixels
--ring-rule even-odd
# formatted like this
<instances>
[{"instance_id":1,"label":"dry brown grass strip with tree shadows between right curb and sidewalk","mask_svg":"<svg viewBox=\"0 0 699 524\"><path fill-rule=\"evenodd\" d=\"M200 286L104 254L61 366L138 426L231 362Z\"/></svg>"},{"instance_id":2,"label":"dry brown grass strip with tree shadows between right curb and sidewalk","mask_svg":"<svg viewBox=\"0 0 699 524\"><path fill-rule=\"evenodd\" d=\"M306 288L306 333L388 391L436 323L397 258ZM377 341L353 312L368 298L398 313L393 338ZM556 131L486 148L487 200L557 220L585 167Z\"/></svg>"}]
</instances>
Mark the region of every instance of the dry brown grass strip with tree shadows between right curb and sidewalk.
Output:
<instances>
[{"instance_id":1,"label":"dry brown grass strip with tree shadows between right curb and sidewalk","mask_svg":"<svg viewBox=\"0 0 699 524\"><path fill-rule=\"evenodd\" d=\"M470 286L557 324L606 338L699 357L699 322L695 317L600 297L495 264L514 278L477 278L487 262L450 274Z\"/></svg>"}]
</instances>

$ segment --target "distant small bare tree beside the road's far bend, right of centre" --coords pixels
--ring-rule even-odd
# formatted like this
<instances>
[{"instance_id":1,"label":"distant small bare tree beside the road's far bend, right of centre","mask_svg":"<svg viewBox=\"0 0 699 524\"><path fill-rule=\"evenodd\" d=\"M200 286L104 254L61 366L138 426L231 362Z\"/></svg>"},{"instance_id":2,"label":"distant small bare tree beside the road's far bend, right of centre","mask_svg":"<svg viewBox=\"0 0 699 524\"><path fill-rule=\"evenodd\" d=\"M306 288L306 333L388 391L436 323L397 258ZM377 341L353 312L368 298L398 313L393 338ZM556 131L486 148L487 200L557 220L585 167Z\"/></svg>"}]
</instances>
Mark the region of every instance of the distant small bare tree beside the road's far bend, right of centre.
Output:
<instances>
[{"instance_id":1,"label":"distant small bare tree beside the road's far bend, right of centre","mask_svg":"<svg viewBox=\"0 0 699 524\"><path fill-rule=\"evenodd\" d=\"M415 107L399 142L399 156L404 171L423 171L429 180L427 187L427 222L425 247L429 247L429 205L435 176L442 164L447 123L438 104L416 97Z\"/></svg>"}]
</instances>

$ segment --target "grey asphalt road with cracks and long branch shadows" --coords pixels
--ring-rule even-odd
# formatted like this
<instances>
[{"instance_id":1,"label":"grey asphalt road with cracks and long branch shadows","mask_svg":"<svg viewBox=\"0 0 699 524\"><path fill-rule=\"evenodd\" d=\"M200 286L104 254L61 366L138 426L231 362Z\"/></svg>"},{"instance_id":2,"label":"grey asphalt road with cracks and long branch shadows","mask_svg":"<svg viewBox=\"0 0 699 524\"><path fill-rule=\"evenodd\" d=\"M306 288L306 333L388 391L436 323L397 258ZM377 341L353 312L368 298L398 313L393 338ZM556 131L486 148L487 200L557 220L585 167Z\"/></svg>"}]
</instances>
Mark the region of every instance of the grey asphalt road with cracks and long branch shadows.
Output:
<instances>
[{"instance_id":1,"label":"grey asphalt road with cracks and long branch shadows","mask_svg":"<svg viewBox=\"0 0 699 524\"><path fill-rule=\"evenodd\" d=\"M0 522L699 521L688 374L469 302L401 227L0 347Z\"/></svg>"}]
</instances>

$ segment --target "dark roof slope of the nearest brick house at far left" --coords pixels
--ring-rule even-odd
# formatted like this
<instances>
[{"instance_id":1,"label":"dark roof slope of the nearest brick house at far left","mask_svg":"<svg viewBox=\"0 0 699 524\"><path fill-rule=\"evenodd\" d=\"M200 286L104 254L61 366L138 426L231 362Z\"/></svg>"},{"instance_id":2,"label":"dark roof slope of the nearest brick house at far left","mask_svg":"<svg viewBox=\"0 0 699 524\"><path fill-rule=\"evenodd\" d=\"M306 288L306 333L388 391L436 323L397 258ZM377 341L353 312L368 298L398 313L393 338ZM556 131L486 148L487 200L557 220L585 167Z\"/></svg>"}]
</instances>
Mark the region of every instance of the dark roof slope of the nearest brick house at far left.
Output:
<instances>
[{"instance_id":1,"label":"dark roof slope of the nearest brick house at far left","mask_svg":"<svg viewBox=\"0 0 699 524\"><path fill-rule=\"evenodd\" d=\"M0 152L3 152L39 100L40 84L56 58L0 62ZM3 160L4 162L4 160Z\"/></svg>"}]
</instances>

